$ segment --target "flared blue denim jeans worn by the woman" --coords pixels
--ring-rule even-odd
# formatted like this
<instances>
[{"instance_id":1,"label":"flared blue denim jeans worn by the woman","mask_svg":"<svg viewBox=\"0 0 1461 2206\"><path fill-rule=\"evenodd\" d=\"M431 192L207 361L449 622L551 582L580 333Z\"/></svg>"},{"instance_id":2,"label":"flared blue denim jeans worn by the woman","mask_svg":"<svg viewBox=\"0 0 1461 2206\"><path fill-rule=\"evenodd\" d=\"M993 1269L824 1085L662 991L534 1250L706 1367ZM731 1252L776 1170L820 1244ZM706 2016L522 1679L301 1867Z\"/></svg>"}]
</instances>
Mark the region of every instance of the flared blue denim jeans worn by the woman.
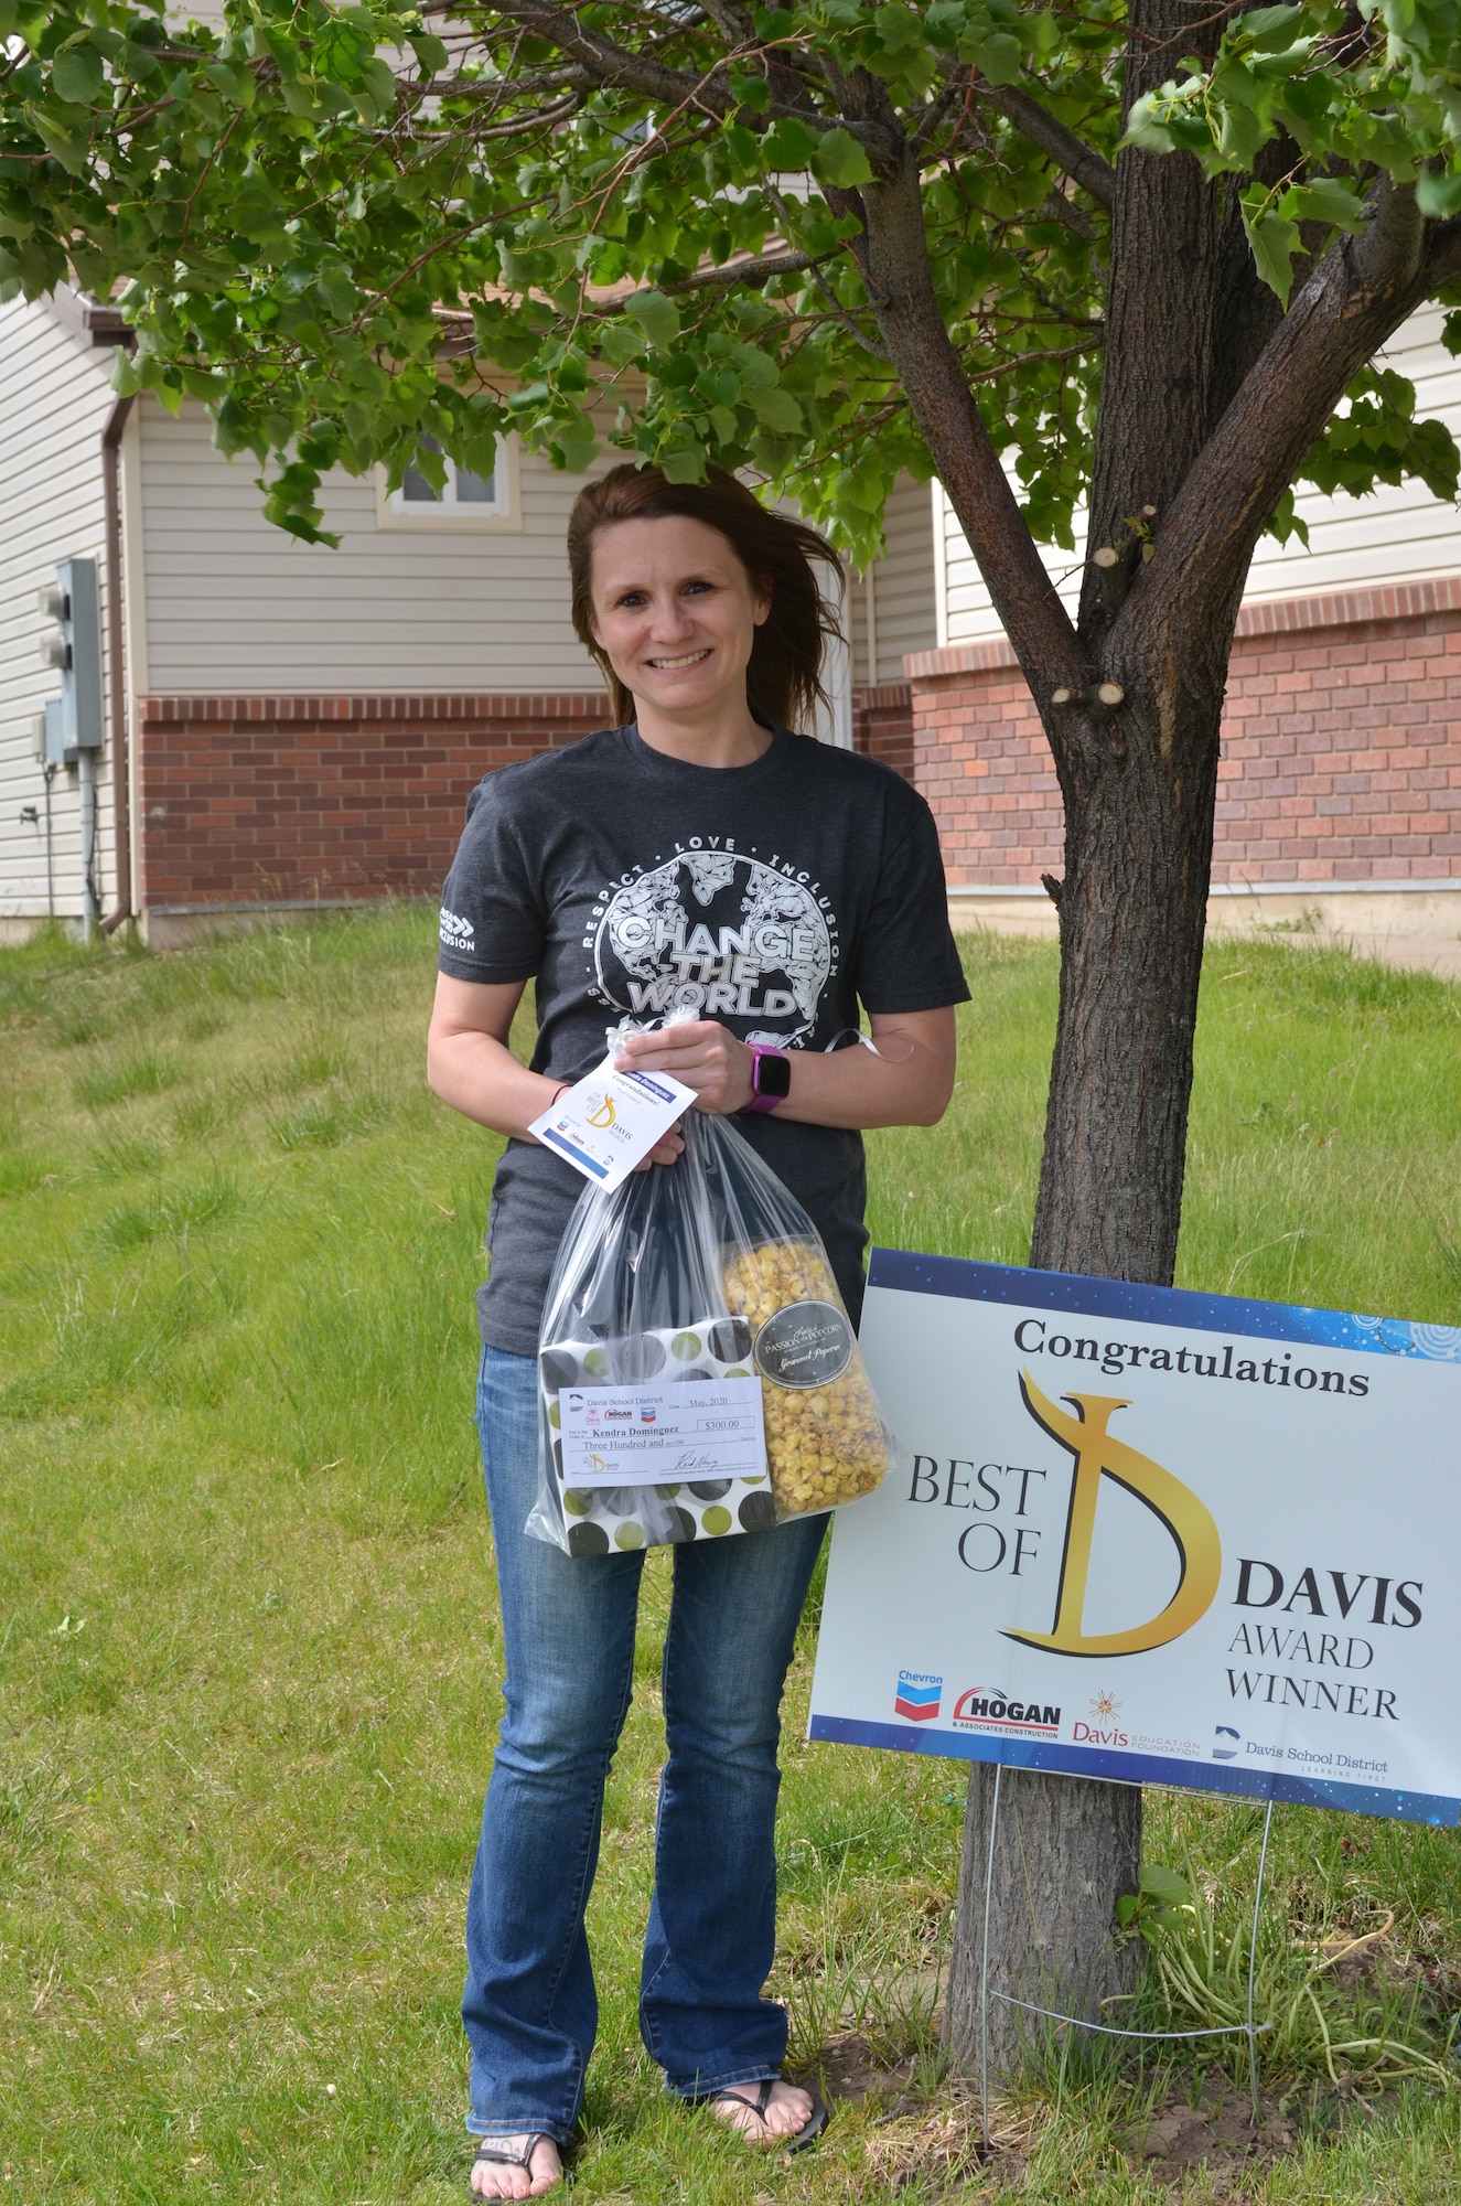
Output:
<instances>
[{"instance_id":1,"label":"flared blue denim jeans worn by the woman","mask_svg":"<svg viewBox=\"0 0 1461 2206\"><path fill-rule=\"evenodd\" d=\"M466 1913L468 2129L567 2144L598 2025L583 1915L633 1690L644 1555L569 1557L523 1535L538 1478L532 1357L483 1348L477 1425L508 1679ZM682 2098L775 2076L786 2054L786 2010L761 1999L777 1937L779 1707L825 1524L675 1546L640 2032Z\"/></svg>"}]
</instances>

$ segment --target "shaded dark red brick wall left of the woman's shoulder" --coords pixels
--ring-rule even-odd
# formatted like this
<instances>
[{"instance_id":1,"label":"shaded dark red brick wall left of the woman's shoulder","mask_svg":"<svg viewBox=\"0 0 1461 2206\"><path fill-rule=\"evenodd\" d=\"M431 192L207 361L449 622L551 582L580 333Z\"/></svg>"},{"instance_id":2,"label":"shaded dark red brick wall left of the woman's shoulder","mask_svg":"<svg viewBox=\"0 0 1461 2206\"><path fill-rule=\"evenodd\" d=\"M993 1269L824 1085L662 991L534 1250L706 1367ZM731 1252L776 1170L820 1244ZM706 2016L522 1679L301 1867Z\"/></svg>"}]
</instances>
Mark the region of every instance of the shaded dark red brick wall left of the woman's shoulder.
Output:
<instances>
[{"instance_id":1,"label":"shaded dark red brick wall left of the woman's shoulder","mask_svg":"<svg viewBox=\"0 0 1461 2206\"><path fill-rule=\"evenodd\" d=\"M481 777L607 715L594 693L146 697L141 900L435 896Z\"/></svg>"}]
</instances>

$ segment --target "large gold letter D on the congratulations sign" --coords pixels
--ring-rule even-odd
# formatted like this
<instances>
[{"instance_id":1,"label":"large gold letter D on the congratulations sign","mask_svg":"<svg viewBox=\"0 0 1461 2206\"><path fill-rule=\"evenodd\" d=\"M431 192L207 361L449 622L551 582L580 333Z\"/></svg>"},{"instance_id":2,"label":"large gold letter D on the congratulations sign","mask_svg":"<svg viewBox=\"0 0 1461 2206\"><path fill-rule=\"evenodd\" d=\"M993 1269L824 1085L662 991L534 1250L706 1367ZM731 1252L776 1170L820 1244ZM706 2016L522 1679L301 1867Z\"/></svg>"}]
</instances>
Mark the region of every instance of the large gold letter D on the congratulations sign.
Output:
<instances>
[{"instance_id":1,"label":"large gold letter D on the congratulations sign","mask_svg":"<svg viewBox=\"0 0 1461 2206\"><path fill-rule=\"evenodd\" d=\"M1064 1394L1062 1401L1075 1403L1079 1412L1068 1416L1044 1399L1028 1372L1020 1374L1020 1392L1035 1423L1044 1425L1051 1438L1075 1456L1075 1478L1070 1482L1066 1553L1059 1564L1059 1593L1055 1595L1055 1630L1004 1632L1004 1637L1020 1639L1026 1648L1051 1648L1053 1654L1143 1654L1181 1639L1212 1608L1223 1575L1223 1542L1212 1516L1192 1487L1106 1429L1110 1412L1128 1410L1130 1403L1112 1394ZM1181 1577L1176 1593L1150 1624L1137 1624L1128 1632L1097 1632L1088 1639L1081 1630L1081 1615L1101 1474L1115 1478L1119 1487L1126 1487L1161 1518L1179 1553Z\"/></svg>"}]
</instances>

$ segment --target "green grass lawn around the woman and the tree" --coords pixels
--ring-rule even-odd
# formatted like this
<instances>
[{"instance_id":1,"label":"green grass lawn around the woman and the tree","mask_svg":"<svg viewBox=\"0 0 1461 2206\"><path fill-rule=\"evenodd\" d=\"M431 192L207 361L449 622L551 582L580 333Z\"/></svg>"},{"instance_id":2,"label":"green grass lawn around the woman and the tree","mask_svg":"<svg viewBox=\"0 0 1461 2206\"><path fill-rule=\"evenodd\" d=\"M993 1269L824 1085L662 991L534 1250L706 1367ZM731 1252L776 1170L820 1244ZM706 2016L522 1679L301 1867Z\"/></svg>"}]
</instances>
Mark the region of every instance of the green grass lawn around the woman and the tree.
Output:
<instances>
[{"instance_id":1,"label":"green grass lawn around the woman and the tree","mask_svg":"<svg viewBox=\"0 0 1461 2206\"><path fill-rule=\"evenodd\" d=\"M967 962L953 1110L872 1136L872 1227L1022 1262L1055 955L980 938ZM497 1143L426 1092L430 975L415 909L170 957L0 953L0 2202L463 2195L461 1904L501 1679L470 1291ZM1461 990L1218 946L1198 1039L1181 1282L1461 1321ZM633 2018L664 1597L660 1553L591 1908L578 2197L1013 2195L934 2162L898 2191L911 2116L845 2107L788 2166L664 2100ZM806 1747L808 1681L810 1630L781 1818L795 2049L856 2025L925 2089L964 1769ZM1148 1853L1223 1915L1258 1827L1154 1798ZM1459 1871L1454 1833L1282 1809L1273 1919L1313 1946L1393 1910L1435 2049ZM1454 2091L1366 2087L1366 2111L1313 2063L1289 2085L1300 2151L1240 2195L1461 2197ZM1121 2149L1134 2089L1033 2085L1020 2195L1167 2197Z\"/></svg>"}]
</instances>

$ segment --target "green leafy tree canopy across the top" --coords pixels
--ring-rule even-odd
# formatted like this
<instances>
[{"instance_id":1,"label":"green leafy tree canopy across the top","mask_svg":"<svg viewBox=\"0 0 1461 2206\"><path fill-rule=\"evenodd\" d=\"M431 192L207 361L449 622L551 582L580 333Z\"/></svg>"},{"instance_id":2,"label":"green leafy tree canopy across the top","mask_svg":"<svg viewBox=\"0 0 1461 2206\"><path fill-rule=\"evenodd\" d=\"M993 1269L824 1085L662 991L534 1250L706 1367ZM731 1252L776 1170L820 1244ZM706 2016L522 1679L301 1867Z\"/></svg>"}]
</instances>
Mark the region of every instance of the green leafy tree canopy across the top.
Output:
<instances>
[{"instance_id":1,"label":"green leafy tree canopy across the top","mask_svg":"<svg viewBox=\"0 0 1461 2206\"><path fill-rule=\"evenodd\" d=\"M335 463L486 468L516 428L578 470L607 406L627 454L755 468L867 556L936 465L863 249L865 188L911 161L938 313L1031 532L1070 545L1121 143L1223 179L1282 304L1386 179L1461 210L1457 0L1190 15L1126 113L1121 0L225 0L216 29L0 0L0 287L119 296L121 388L203 399L305 538ZM1450 496L1457 468L1364 366L1300 472Z\"/></svg>"}]
</instances>

